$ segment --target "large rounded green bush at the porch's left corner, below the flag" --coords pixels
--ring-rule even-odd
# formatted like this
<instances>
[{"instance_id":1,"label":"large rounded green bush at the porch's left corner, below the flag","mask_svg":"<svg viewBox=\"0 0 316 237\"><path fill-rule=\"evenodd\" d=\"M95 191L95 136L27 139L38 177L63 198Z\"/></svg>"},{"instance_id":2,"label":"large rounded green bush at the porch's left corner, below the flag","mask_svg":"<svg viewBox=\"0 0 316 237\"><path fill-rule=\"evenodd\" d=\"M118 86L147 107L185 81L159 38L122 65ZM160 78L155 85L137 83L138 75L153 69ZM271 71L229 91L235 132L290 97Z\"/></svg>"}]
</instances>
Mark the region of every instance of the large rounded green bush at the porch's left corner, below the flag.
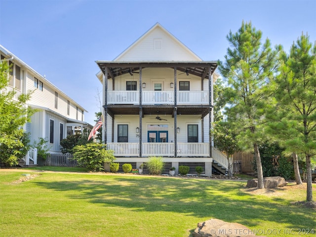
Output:
<instances>
[{"instance_id":1,"label":"large rounded green bush at the porch's left corner, below the flag","mask_svg":"<svg viewBox=\"0 0 316 237\"><path fill-rule=\"evenodd\" d=\"M99 143L88 143L74 147L74 159L79 166L90 171L103 171L104 162L112 162L115 157L113 151L106 150L106 145Z\"/></svg>"}]
</instances>

